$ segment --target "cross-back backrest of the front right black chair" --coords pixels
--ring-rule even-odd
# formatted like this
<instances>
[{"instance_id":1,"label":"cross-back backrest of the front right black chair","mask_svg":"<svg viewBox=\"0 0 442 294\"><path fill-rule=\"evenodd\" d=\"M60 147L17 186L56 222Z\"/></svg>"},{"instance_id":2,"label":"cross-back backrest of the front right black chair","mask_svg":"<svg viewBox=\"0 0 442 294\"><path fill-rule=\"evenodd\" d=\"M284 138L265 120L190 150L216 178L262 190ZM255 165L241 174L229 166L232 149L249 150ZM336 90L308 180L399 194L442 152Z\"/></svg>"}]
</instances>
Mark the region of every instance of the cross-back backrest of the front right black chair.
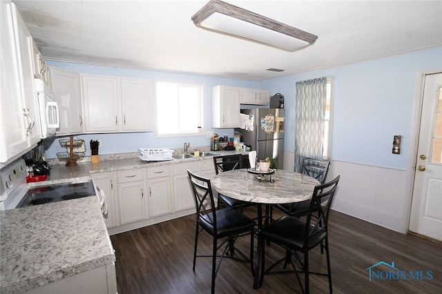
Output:
<instances>
[{"instance_id":1,"label":"cross-back backrest of the front right black chair","mask_svg":"<svg viewBox=\"0 0 442 294\"><path fill-rule=\"evenodd\" d=\"M327 235L330 206L338 187L340 175L331 182L320 184L314 188L306 220L305 246L309 242L317 244ZM327 199L326 199L327 198Z\"/></svg>"}]
</instances>

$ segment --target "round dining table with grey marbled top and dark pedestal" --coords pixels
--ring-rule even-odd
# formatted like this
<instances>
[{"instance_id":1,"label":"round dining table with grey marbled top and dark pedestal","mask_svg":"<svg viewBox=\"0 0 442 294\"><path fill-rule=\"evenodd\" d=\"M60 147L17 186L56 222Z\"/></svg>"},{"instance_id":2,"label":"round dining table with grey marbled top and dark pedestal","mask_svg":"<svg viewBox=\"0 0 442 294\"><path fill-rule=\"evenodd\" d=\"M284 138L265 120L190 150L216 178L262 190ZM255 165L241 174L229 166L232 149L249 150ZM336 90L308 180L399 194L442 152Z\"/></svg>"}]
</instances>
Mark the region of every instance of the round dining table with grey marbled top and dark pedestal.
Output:
<instances>
[{"instance_id":1,"label":"round dining table with grey marbled top and dark pedestal","mask_svg":"<svg viewBox=\"0 0 442 294\"><path fill-rule=\"evenodd\" d=\"M236 169L213 177L212 186L218 193L233 199L257 204L258 231L262 228L262 204L265 205L265 224L269 222L269 206L302 202L311 199L317 179L288 170L271 170L268 174L250 169ZM260 256L256 256L253 288L258 288Z\"/></svg>"}]
</instances>

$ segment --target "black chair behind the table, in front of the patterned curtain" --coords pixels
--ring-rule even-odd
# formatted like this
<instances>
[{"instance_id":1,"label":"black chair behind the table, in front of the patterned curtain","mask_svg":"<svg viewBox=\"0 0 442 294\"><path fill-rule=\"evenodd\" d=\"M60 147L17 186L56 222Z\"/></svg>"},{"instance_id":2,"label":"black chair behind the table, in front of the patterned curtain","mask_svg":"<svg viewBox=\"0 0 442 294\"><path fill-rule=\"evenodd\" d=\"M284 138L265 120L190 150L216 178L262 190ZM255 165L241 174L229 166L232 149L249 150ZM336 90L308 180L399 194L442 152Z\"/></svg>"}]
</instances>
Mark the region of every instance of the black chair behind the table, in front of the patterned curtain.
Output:
<instances>
[{"instance_id":1,"label":"black chair behind the table, in front of the patterned curtain","mask_svg":"<svg viewBox=\"0 0 442 294\"><path fill-rule=\"evenodd\" d=\"M319 181L320 184L323 184L325 181L325 177L327 177L329 166L330 161L328 160L304 157L302 158L301 173L309 175L310 177L314 177ZM286 213L287 215L291 215L293 217L301 217L302 215L306 215L309 212L310 200L306 200L303 202L278 204L275 207L281 210L283 213ZM273 217L273 215L271 215L271 217Z\"/></svg>"}]
</instances>

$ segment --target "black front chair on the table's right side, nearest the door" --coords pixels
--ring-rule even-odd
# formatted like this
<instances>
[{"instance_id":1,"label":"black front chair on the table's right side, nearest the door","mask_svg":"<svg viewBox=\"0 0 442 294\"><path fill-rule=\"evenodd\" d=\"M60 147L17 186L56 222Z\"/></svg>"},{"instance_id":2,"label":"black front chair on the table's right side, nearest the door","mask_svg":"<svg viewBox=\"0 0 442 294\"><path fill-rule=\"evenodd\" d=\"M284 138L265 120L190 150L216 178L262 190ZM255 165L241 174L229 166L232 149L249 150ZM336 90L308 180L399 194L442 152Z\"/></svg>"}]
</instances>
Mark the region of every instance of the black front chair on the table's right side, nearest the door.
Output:
<instances>
[{"instance_id":1,"label":"black front chair on the table's right side, nearest the door","mask_svg":"<svg viewBox=\"0 0 442 294\"><path fill-rule=\"evenodd\" d=\"M309 206L309 212L305 219L285 215L271 222L268 226L262 228L258 234L258 255L261 259L261 275L259 287L262 286L264 275L276 273L295 273L302 289L302 293L309 293L309 275L327 276L329 280L329 291L332 293L332 275L330 272L330 255L328 242L328 219L329 210L332 204L340 176L331 182L320 184L314 188L313 196ZM314 215L318 211L318 217ZM265 242L271 242L285 248L285 257L278 262L265 268ZM324 243L324 249L327 256L327 273L309 271L309 251L318 245ZM287 255L287 252L289 253ZM298 257L297 253L302 253L304 259ZM298 271L292 256L298 259L301 269ZM279 271L276 271L278 264L284 263ZM287 269L287 264L291 264L292 270ZM305 275L305 288L298 273Z\"/></svg>"}]
</instances>

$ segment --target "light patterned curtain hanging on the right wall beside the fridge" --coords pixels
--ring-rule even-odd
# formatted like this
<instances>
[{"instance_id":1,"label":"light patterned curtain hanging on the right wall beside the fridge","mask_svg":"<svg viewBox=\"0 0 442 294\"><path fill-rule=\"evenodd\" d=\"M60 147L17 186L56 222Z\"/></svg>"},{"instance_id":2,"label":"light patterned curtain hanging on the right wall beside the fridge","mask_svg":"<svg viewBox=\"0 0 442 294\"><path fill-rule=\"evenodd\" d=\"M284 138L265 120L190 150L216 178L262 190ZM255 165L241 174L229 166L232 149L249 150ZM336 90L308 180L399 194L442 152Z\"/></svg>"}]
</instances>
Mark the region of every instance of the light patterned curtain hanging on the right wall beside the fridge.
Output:
<instances>
[{"instance_id":1,"label":"light patterned curtain hanging on the right wall beside the fridge","mask_svg":"<svg viewBox=\"0 0 442 294\"><path fill-rule=\"evenodd\" d=\"M295 171L302 157L323 158L327 77L296 82Z\"/></svg>"}]
</instances>

